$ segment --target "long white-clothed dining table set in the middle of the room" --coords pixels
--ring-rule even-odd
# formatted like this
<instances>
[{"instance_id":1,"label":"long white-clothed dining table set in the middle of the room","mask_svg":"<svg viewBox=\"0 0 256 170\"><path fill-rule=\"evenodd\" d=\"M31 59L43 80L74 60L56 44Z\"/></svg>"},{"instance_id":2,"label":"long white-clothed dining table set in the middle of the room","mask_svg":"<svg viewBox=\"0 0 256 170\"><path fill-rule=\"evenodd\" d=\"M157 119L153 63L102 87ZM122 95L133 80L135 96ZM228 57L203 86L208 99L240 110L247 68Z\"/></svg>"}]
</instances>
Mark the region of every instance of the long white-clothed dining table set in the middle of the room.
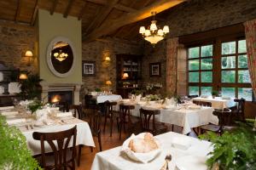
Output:
<instances>
[{"instance_id":1,"label":"long white-clothed dining table set in the middle of the room","mask_svg":"<svg viewBox=\"0 0 256 170\"><path fill-rule=\"evenodd\" d=\"M159 110L160 115L155 116L155 121L169 123L183 127L183 134L188 134L194 127L200 127L209 123L218 125L218 116L214 116L214 109L207 106L194 105L191 102L183 105L168 106L161 102L138 101L132 99L123 99L119 105L134 105L135 109L131 110L131 116L140 116L140 108L148 110ZM117 111L119 106L115 108Z\"/></svg>"}]
</instances>

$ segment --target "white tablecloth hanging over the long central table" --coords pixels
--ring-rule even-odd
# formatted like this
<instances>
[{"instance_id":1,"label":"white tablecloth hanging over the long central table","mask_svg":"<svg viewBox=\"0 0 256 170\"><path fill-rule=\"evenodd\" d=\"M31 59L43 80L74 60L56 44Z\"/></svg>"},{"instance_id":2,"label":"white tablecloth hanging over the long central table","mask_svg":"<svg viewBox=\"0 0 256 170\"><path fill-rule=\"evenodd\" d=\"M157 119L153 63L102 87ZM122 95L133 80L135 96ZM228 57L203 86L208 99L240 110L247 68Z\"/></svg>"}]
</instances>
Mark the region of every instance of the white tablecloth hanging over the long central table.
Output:
<instances>
[{"instance_id":1,"label":"white tablecloth hanging over the long central table","mask_svg":"<svg viewBox=\"0 0 256 170\"><path fill-rule=\"evenodd\" d=\"M142 105L135 105L135 109L131 110L132 116L139 116L139 109ZM143 107L154 108L154 105L143 105ZM155 107L155 109L158 109ZM183 134L191 132L191 128L200 127L202 125L207 125L209 122L218 125L218 116L214 116L212 107L201 107L200 110L189 110L189 109L179 109L179 110L168 110L159 109L160 116L155 116L155 120L158 122L170 123L183 127Z\"/></svg>"}]
</instances>

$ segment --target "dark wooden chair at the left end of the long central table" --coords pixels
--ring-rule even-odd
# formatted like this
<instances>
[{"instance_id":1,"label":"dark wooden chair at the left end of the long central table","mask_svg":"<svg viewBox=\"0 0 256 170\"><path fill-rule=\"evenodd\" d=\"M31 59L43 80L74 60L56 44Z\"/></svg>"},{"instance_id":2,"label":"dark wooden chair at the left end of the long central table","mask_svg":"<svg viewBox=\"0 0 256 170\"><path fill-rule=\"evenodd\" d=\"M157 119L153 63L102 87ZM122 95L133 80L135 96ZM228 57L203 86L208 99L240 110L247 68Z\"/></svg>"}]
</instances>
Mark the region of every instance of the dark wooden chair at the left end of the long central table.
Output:
<instances>
[{"instance_id":1,"label":"dark wooden chair at the left end of the long central table","mask_svg":"<svg viewBox=\"0 0 256 170\"><path fill-rule=\"evenodd\" d=\"M132 122L131 122L131 114L130 111L134 110L134 105L119 105L119 117L118 117L118 124L119 124L119 140L121 139L122 134L122 127L125 132L125 124L128 123L129 129L132 129ZM128 117L128 122L126 121L126 117Z\"/></svg>"}]
</instances>

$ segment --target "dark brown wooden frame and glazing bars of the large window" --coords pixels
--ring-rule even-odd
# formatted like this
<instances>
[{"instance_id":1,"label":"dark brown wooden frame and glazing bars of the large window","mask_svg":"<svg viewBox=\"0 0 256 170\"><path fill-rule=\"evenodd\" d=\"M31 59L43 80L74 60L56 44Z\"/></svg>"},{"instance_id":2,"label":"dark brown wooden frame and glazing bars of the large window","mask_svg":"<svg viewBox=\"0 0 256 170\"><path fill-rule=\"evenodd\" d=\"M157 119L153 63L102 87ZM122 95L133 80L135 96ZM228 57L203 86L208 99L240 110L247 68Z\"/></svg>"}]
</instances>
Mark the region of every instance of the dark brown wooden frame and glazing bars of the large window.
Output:
<instances>
[{"instance_id":1,"label":"dark brown wooden frame and glazing bars of the large window","mask_svg":"<svg viewBox=\"0 0 256 170\"><path fill-rule=\"evenodd\" d=\"M238 88L252 88L249 82L238 82L238 71L248 71L248 68L238 68L238 57L240 55L247 55L247 53L238 53L239 41L246 40L245 37L217 37L211 42L202 42L197 44L192 44L187 46L187 92L189 94L189 87L198 87L199 95L201 95L201 87L212 87L212 90L219 90L221 88L235 88L235 96L238 98ZM222 54L222 43L224 42L236 42L236 53L235 54ZM201 58L201 47L212 44L212 57ZM200 57L189 59L189 48L200 47ZM236 67L223 69L222 68L222 57L235 56L236 57ZM212 59L212 70L201 70L201 59ZM199 59L199 70L189 71L189 60ZM212 71L212 82L201 82L201 71ZM222 82L222 71L235 71L235 82ZM199 72L199 82L189 82L189 72ZM252 93L252 101L254 101L254 96Z\"/></svg>"}]
</instances>

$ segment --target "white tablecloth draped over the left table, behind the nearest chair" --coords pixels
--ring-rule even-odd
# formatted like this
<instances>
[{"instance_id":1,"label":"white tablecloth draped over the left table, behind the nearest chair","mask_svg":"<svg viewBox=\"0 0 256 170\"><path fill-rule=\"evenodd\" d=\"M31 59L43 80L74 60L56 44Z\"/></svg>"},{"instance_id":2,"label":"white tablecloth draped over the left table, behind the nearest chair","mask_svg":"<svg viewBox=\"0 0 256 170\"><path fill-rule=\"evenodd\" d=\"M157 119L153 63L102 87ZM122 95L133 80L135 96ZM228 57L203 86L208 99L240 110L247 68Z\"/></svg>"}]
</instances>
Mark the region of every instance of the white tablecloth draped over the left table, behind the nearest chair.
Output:
<instances>
[{"instance_id":1,"label":"white tablecloth draped over the left table, behind the nearest chair","mask_svg":"<svg viewBox=\"0 0 256 170\"><path fill-rule=\"evenodd\" d=\"M42 133L53 133L53 132L59 132L63 130L70 129L77 125L77 139L76 139L76 145L84 144L87 146L93 146L95 147L90 127L87 122L81 121L77 118L65 119L65 123L63 125L53 125L53 126L45 126L45 127L33 127L33 129L27 130L26 127L19 127L20 131L23 133L23 135L26 137L26 144L30 150L32 150L32 155L38 155L41 153L41 145L39 140L35 140L32 137L33 132L42 132ZM69 145L72 145L73 139L70 140ZM50 152L49 144L46 144L45 146L46 152Z\"/></svg>"}]
</instances>

